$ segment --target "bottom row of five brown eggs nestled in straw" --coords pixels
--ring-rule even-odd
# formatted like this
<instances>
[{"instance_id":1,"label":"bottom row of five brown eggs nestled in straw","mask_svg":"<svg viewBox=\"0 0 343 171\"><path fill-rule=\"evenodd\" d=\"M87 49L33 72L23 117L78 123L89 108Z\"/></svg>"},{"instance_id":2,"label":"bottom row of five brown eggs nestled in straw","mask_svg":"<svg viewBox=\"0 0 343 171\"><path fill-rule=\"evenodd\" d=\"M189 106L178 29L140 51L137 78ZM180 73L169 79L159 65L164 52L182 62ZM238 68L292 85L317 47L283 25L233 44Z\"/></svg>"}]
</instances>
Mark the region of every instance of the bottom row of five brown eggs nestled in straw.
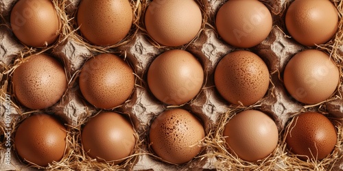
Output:
<instances>
[{"instance_id":1,"label":"bottom row of five brown eggs nestled in straw","mask_svg":"<svg viewBox=\"0 0 343 171\"><path fill-rule=\"evenodd\" d=\"M283 136L291 154L311 161L330 155L338 140L332 122L316 112L295 116ZM222 137L228 153L250 162L270 156L279 143L274 120L258 110L241 111L230 118ZM82 150L89 157L117 165L134 155L139 137L128 118L113 111L104 111L86 122L80 138ZM154 118L147 140L153 153L161 160L182 164L202 152L204 138L201 120L185 109L174 108ZM49 114L33 114L19 124L14 146L24 161L46 167L64 157L67 141L67 128L58 118Z\"/></svg>"}]
</instances>

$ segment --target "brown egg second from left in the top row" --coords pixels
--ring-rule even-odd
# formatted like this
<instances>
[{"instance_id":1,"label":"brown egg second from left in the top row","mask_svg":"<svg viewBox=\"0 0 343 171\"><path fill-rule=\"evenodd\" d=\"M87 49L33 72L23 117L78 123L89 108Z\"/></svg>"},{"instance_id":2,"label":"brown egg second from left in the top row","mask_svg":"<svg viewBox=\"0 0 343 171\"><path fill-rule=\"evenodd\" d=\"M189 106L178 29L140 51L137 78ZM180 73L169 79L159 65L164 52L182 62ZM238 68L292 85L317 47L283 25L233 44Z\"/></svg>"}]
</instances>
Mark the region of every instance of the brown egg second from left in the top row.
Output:
<instances>
[{"instance_id":1,"label":"brown egg second from left in the top row","mask_svg":"<svg viewBox=\"0 0 343 171\"><path fill-rule=\"evenodd\" d=\"M92 44L108 46L128 35L132 18L129 0L82 0L77 19L84 38Z\"/></svg>"}]
</instances>

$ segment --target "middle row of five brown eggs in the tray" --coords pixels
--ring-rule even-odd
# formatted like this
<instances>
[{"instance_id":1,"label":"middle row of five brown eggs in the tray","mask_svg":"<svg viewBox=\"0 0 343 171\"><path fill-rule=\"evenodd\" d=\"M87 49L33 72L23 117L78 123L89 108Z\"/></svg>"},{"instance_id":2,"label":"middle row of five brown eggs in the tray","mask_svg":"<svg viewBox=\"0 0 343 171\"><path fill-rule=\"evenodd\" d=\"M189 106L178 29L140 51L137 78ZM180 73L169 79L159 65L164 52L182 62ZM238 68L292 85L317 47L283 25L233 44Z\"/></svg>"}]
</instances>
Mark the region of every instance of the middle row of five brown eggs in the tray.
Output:
<instances>
[{"instance_id":1,"label":"middle row of five brown eggs in the tray","mask_svg":"<svg viewBox=\"0 0 343 171\"><path fill-rule=\"evenodd\" d=\"M97 108L113 109L130 98L135 86L134 71L112 53L88 60L79 75L82 95ZM309 49L294 55L285 66L283 81L296 100L316 104L333 96L340 83L340 69L322 51ZM174 49L158 55L147 70L147 86L168 105L188 103L202 89L204 70L188 51ZM230 104L250 106L270 87L270 73L261 58L250 51L234 51L215 68L214 83ZM25 57L12 74L16 100L30 109L56 104L67 90L63 66L46 54Z\"/></svg>"}]
</instances>

